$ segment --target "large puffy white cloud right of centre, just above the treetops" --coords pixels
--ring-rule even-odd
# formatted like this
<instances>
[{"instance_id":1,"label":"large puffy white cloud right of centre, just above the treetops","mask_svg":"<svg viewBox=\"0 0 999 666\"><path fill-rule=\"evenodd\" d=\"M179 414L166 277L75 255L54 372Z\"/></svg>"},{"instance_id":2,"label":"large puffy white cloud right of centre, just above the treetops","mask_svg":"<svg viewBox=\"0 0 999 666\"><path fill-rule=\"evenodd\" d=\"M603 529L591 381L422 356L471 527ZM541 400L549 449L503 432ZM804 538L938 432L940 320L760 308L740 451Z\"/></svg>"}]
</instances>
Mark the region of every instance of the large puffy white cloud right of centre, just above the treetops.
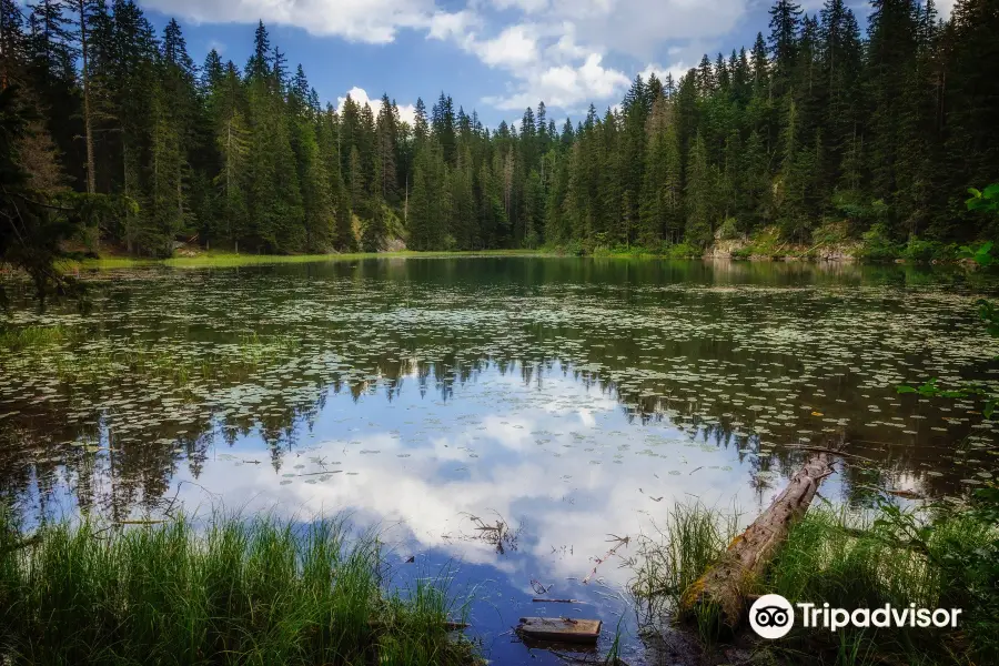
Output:
<instances>
[{"instance_id":1,"label":"large puffy white cloud right of centre, just above the treetops","mask_svg":"<svg viewBox=\"0 0 999 666\"><path fill-rule=\"evenodd\" d=\"M503 10L514 23L498 33L484 17L437 19L431 37L450 39L484 64L507 70L512 80L504 93L483 102L504 110L534 107L544 100L553 108L579 111L589 102L616 101L634 74L606 64L607 53L649 62L652 71L678 77L684 63L729 33L745 16L745 0L472 0L466 11ZM518 18L517 18L517 14ZM672 64L652 60L673 42Z\"/></svg>"}]
</instances>

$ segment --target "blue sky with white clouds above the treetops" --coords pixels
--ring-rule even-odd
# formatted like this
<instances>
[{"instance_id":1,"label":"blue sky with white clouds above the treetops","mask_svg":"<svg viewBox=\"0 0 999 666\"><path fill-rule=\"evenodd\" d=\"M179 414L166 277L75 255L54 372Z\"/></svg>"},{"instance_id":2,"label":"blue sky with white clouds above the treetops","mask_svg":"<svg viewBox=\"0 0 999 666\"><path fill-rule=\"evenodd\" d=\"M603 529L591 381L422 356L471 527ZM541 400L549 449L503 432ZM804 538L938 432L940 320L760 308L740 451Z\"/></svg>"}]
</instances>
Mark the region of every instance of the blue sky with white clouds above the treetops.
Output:
<instances>
[{"instance_id":1,"label":"blue sky with white clouds above the treetops","mask_svg":"<svg viewBox=\"0 0 999 666\"><path fill-rule=\"evenodd\" d=\"M823 0L805 0L809 12ZM320 98L396 100L443 90L491 127L544 100L556 120L617 103L637 73L682 72L705 53L751 46L769 0L139 0L170 17L201 61L214 47L241 67L262 19ZM852 0L850 4L857 4ZM866 24L862 2L858 9ZM363 92L362 92L363 91Z\"/></svg>"}]
</instances>

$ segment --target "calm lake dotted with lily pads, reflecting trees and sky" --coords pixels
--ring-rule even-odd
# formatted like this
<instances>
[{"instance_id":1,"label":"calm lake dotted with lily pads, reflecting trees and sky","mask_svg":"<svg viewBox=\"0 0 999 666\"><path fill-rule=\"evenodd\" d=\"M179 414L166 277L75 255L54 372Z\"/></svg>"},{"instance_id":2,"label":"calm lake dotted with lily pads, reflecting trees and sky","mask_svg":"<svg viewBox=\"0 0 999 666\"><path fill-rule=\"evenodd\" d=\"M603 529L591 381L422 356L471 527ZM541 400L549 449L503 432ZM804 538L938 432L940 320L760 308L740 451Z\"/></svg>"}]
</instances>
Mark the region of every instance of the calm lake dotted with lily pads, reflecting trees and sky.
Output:
<instances>
[{"instance_id":1,"label":"calm lake dotted with lily pads, reflecting trees and sky","mask_svg":"<svg viewBox=\"0 0 999 666\"><path fill-rule=\"evenodd\" d=\"M85 281L87 313L14 285L4 317L33 332L0 347L0 494L26 519L346 512L393 581L472 594L502 664L562 663L513 637L525 615L599 617L604 647L623 617L640 662L639 536L677 501L751 521L803 447L847 454L820 495L859 506L999 470L980 403L897 391L996 386L976 312L995 284L959 269L492 256Z\"/></svg>"}]
</instances>

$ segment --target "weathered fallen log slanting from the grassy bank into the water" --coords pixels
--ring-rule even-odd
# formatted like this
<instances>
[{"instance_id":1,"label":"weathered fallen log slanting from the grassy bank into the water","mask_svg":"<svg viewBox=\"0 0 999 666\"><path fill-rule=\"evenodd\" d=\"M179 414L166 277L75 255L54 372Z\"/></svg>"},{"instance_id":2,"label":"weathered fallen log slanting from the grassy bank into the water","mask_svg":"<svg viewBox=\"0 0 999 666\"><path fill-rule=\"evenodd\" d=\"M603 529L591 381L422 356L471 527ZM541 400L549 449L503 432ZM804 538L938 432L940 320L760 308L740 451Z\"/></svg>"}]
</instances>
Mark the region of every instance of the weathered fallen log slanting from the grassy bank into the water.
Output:
<instances>
[{"instance_id":1,"label":"weathered fallen log slanting from the grassy bank into the water","mask_svg":"<svg viewBox=\"0 0 999 666\"><path fill-rule=\"evenodd\" d=\"M748 595L766 573L767 565L787 539L788 531L811 504L823 478L833 474L828 453L813 455L795 474L770 507L757 517L728 549L680 597L680 617L698 608L718 614L722 624L736 628L746 610Z\"/></svg>"}]
</instances>

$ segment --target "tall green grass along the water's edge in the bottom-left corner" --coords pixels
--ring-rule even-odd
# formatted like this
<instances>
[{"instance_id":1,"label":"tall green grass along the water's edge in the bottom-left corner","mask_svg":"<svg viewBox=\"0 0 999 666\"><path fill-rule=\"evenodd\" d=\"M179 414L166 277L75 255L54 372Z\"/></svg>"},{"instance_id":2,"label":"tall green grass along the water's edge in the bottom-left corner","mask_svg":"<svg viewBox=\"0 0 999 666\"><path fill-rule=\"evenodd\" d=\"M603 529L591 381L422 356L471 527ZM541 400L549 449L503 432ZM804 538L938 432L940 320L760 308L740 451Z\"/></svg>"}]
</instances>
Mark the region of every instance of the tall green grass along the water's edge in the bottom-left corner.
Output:
<instances>
[{"instance_id":1,"label":"tall green grass along the water's edge in the bottom-left corner","mask_svg":"<svg viewBox=\"0 0 999 666\"><path fill-rule=\"evenodd\" d=\"M474 657L440 583L383 587L377 541L344 525L181 518L26 536L0 516L6 664L406 664Z\"/></svg>"}]
</instances>

